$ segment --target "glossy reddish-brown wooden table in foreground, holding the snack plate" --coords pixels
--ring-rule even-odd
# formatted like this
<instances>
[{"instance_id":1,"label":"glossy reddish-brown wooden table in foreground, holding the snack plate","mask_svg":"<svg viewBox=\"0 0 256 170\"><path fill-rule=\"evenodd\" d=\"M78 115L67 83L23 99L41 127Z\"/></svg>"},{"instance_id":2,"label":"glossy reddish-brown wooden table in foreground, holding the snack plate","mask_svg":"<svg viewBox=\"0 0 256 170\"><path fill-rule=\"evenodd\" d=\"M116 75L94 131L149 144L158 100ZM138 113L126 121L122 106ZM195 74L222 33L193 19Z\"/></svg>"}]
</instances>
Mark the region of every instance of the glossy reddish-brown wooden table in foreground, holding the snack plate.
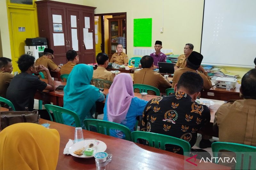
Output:
<instances>
[{"instance_id":1,"label":"glossy reddish-brown wooden table in foreground, holding the snack plate","mask_svg":"<svg viewBox=\"0 0 256 170\"><path fill-rule=\"evenodd\" d=\"M40 119L40 124L46 123L44 119ZM71 155L64 155L63 150L68 139L74 139L75 128L48 121L51 124L50 129L57 129L60 134L60 152L56 169L95 169L95 159L76 158ZM108 169L230 169L214 163L199 163L192 165L184 161L188 157L176 153L156 149L150 146L136 144L131 141L102 135L100 133L83 130L84 138L96 138L103 141L107 145L107 153L111 153L112 161L108 164ZM185 159L184 159L185 158Z\"/></svg>"}]
</instances>

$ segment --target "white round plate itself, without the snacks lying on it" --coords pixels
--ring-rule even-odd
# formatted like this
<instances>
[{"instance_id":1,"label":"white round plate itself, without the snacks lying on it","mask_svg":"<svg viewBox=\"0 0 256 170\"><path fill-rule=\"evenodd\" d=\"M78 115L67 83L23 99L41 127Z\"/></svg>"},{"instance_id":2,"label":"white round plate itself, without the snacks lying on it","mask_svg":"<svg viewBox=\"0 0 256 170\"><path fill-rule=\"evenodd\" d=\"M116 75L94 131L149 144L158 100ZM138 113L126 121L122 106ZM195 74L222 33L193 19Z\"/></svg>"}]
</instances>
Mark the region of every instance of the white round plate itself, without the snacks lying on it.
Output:
<instances>
[{"instance_id":1,"label":"white round plate itself, without the snacks lying on it","mask_svg":"<svg viewBox=\"0 0 256 170\"><path fill-rule=\"evenodd\" d=\"M106 151L107 149L107 145L100 141L100 140L86 140L86 143L93 143L95 141L96 143L96 152L94 153L97 153L97 152L104 152ZM76 155L74 152L78 149L81 149L83 148L85 145L85 140L84 141L80 141L80 142L77 142L73 145L71 145L68 149L68 152L72 155L72 156L75 156L75 157L78 157L78 158L92 158L94 155L92 156L86 156L86 155Z\"/></svg>"}]
</instances>

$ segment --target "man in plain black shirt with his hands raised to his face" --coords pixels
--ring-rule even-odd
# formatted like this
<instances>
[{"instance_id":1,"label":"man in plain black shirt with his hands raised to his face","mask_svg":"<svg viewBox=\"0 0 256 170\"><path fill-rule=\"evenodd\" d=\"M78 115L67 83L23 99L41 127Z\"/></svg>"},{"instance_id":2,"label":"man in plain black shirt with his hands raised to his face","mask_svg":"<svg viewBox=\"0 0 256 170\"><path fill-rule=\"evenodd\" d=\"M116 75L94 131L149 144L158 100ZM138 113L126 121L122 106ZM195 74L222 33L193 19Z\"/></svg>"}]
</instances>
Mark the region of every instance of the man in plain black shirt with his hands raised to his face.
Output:
<instances>
[{"instance_id":1,"label":"man in plain black shirt with his hands raised to his face","mask_svg":"<svg viewBox=\"0 0 256 170\"><path fill-rule=\"evenodd\" d=\"M21 73L12 79L6 92L6 99L12 102L16 111L26 111L25 107L28 107L28 111L32 111L36 90L53 91L55 89L53 80L46 67L43 65L36 66L35 57L33 56L21 55L17 63ZM48 84L40 80L37 76L32 75L40 71L46 72Z\"/></svg>"}]
</instances>

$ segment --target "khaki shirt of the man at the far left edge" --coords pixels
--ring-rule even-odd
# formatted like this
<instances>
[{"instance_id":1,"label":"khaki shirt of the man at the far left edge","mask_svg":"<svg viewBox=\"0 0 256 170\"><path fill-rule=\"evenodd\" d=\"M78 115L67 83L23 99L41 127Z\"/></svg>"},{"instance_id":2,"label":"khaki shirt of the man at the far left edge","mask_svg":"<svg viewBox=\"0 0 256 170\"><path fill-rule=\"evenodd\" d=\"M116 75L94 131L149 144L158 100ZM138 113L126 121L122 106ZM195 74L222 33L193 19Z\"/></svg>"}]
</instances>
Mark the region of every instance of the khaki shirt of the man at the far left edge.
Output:
<instances>
[{"instance_id":1,"label":"khaki shirt of the man at the far left edge","mask_svg":"<svg viewBox=\"0 0 256 170\"><path fill-rule=\"evenodd\" d=\"M13 74L9 72L0 72L0 96L6 98L6 90L9 87L9 84L14 77Z\"/></svg>"}]
</instances>

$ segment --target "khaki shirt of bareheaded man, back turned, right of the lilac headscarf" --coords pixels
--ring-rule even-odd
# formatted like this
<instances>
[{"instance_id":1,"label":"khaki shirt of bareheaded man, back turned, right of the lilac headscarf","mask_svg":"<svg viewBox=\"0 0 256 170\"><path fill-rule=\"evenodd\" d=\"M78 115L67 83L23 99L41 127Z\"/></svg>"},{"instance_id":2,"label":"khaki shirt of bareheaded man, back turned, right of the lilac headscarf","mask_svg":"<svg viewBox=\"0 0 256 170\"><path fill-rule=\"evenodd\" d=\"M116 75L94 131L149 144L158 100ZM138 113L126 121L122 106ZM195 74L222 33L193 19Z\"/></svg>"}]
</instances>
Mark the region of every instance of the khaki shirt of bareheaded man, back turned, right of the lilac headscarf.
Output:
<instances>
[{"instance_id":1,"label":"khaki shirt of bareheaded man, back turned, right of the lilac headscarf","mask_svg":"<svg viewBox=\"0 0 256 170\"><path fill-rule=\"evenodd\" d=\"M134 84L151 85L158 88L159 86L169 87L170 82L167 81L161 74L156 73L152 69L144 68L140 71L136 71L133 74ZM135 89L136 93L139 93L139 89ZM148 94L156 95L153 91L148 91Z\"/></svg>"}]
</instances>

